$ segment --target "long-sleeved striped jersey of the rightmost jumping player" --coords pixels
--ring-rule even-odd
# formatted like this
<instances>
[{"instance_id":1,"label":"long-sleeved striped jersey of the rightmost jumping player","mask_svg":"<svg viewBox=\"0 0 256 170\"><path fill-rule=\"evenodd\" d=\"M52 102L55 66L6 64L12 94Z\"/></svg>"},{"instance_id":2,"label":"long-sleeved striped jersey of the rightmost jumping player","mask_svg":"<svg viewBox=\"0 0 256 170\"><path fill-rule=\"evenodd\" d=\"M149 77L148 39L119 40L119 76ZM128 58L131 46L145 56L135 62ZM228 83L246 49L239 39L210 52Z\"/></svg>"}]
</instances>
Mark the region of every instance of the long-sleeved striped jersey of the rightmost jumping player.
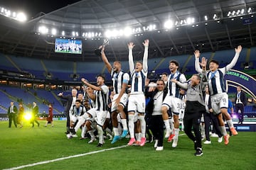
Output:
<instances>
[{"instance_id":1,"label":"long-sleeved striped jersey of the rightmost jumping player","mask_svg":"<svg viewBox=\"0 0 256 170\"><path fill-rule=\"evenodd\" d=\"M235 63L238 61L239 55L240 52L236 52L233 60L226 67L217 69L215 70L215 72L206 71L210 95L222 94L226 92L224 75L235 66ZM203 74L203 70L200 68L199 58L196 58L195 67L198 73Z\"/></svg>"}]
</instances>

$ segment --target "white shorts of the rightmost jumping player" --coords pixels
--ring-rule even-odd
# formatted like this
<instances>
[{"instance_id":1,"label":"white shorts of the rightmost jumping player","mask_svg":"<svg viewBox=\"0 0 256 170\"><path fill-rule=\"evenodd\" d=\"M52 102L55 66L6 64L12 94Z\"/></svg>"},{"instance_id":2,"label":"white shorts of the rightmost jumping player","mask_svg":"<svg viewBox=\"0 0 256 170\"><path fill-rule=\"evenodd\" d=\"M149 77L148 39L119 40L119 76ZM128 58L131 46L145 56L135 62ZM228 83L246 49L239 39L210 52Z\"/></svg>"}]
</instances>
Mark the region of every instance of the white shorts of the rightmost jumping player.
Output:
<instances>
[{"instance_id":1,"label":"white shorts of the rightmost jumping player","mask_svg":"<svg viewBox=\"0 0 256 170\"><path fill-rule=\"evenodd\" d=\"M210 96L210 101L214 115L220 113L220 108L228 108L228 94L226 93Z\"/></svg>"}]
</instances>

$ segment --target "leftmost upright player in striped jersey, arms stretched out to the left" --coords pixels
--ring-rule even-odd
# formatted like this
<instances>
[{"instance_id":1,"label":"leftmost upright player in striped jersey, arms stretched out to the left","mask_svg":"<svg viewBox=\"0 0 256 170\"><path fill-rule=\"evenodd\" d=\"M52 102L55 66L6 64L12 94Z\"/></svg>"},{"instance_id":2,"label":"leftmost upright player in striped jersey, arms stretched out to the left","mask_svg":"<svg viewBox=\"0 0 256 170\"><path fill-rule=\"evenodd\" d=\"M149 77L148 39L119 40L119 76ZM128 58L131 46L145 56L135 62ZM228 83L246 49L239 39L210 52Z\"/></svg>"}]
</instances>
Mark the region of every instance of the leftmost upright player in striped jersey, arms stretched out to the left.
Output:
<instances>
[{"instance_id":1,"label":"leftmost upright player in striped jersey, arms stretched out to the left","mask_svg":"<svg viewBox=\"0 0 256 170\"><path fill-rule=\"evenodd\" d=\"M102 75L97 76L97 86L90 84L85 78L81 79L86 86L96 91L95 94L95 111L97 116L97 131L99 134L99 143L97 147L103 146L103 129L102 126L107 118L107 101L109 98L109 88L105 85L105 77Z\"/></svg>"}]
</instances>

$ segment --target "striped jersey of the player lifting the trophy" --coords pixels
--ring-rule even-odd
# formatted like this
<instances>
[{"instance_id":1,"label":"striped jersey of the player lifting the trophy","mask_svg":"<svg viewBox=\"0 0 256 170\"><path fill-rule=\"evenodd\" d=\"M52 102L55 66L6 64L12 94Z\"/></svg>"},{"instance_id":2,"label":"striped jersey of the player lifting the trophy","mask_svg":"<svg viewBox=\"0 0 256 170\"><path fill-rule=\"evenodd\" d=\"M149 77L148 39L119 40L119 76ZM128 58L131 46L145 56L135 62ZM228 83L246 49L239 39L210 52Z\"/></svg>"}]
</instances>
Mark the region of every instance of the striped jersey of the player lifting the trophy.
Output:
<instances>
[{"instance_id":1,"label":"striped jersey of the player lifting the trophy","mask_svg":"<svg viewBox=\"0 0 256 170\"><path fill-rule=\"evenodd\" d=\"M113 81L113 91L115 94L119 94L122 89L122 84L128 84L129 82L129 74L125 72L114 72L114 70L111 70L111 77ZM125 92L124 92L125 93Z\"/></svg>"}]
</instances>

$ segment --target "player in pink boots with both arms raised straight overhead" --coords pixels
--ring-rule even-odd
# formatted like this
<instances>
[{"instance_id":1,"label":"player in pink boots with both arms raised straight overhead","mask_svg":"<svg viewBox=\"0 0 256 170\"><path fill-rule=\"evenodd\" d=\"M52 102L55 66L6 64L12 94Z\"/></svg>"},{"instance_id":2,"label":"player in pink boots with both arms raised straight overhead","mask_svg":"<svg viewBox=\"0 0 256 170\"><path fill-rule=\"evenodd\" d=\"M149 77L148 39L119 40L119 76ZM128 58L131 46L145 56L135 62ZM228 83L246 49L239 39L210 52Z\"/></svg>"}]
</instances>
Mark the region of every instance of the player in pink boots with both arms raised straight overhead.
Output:
<instances>
[{"instance_id":1,"label":"player in pink boots with both arms raised straight overhead","mask_svg":"<svg viewBox=\"0 0 256 170\"><path fill-rule=\"evenodd\" d=\"M139 114L139 121L142 128L142 139L140 146L144 146L146 142L146 121L145 121L145 96L144 96L144 86L146 81L146 76L148 73L147 59L149 55L149 40L144 40L142 42L144 45L144 56L143 62L136 62L134 67L134 61L132 56L132 49L134 48L134 43L129 42L129 70L131 74L132 87L128 102L128 117L129 117L129 133L131 139L128 145L132 145L136 142L134 137L134 113L137 111Z\"/></svg>"}]
</instances>

